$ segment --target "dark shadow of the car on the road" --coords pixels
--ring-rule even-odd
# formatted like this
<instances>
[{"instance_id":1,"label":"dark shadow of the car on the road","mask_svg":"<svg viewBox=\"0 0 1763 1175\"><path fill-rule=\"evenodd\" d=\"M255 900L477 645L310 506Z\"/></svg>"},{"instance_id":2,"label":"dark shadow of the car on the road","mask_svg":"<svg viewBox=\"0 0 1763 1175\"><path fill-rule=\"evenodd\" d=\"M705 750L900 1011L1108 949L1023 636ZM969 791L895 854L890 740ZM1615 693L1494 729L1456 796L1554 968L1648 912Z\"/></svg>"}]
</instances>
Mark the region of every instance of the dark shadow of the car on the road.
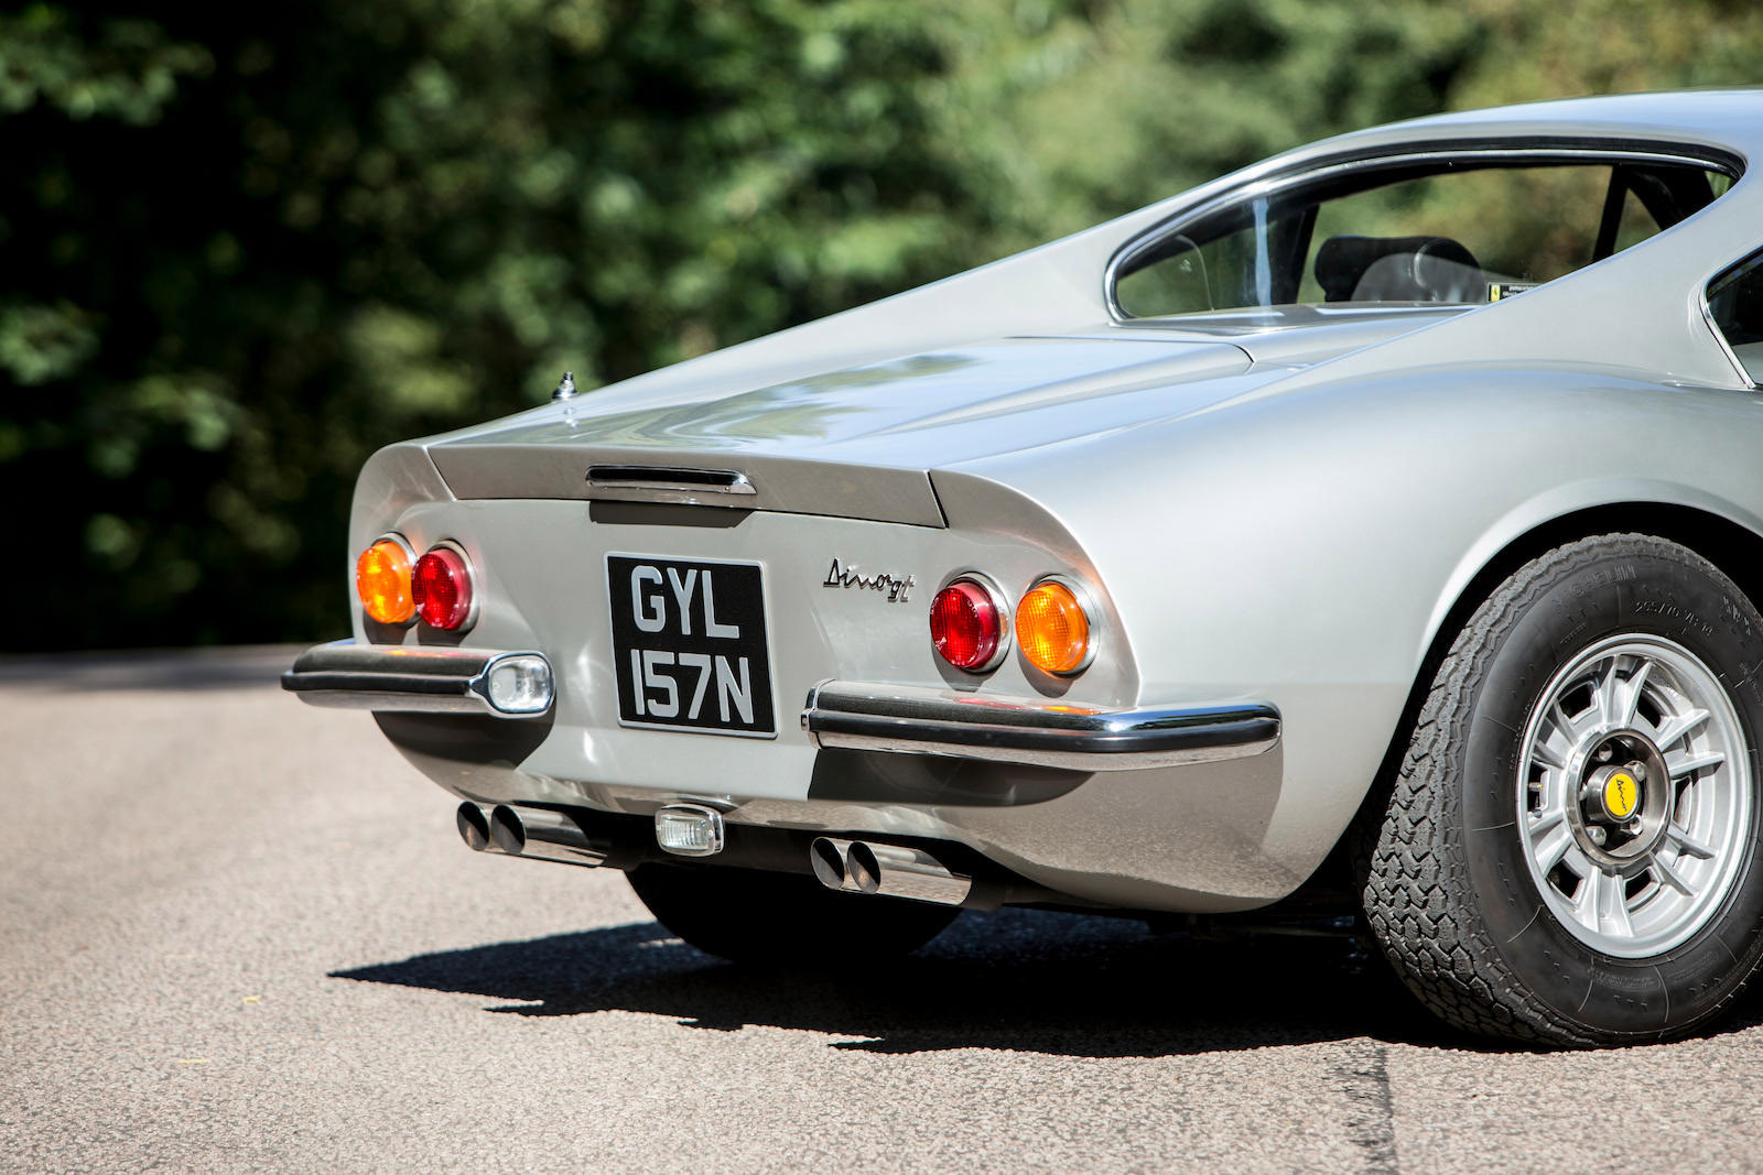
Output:
<instances>
[{"instance_id":1,"label":"dark shadow of the car on the road","mask_svg":"<svg viewBox=\"0 0 1763 1175\"><path fill-rule=\"evenodd\" d=\"M617 1009L696 1029L807 1029L852 1038L834 1048L880 1053L1162 1057L1366 1036L1477 1046L1338 939L1195 941L1023 909L970 911L917 955L850 972L735 967L656 923L629 923L331 976L513 1001L490 1011L524 1016Z\"/></svg>"}]
</instances>

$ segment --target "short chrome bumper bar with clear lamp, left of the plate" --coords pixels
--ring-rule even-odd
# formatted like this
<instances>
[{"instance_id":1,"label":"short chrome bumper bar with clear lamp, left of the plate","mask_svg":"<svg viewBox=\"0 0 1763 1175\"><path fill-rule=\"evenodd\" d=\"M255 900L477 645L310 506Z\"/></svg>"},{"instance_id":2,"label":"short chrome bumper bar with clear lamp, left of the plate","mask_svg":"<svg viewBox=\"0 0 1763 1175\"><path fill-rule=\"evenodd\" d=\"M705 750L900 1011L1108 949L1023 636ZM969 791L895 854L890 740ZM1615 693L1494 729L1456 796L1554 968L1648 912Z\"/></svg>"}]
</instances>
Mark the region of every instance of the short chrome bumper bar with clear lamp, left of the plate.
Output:
<instances>
[{"instance_id":1,"label":"short chrome bumper bar with clear lamp, left of the plate","mask_svg":"<svg viewBox=\"0 0 1763 1175\"><path fill-rule=\"evenodd\" d=\"M538 719L550 712L554 685L543 654L344 639L300 654L282 689L314 706Z\"/></svg>"}]
</instances>

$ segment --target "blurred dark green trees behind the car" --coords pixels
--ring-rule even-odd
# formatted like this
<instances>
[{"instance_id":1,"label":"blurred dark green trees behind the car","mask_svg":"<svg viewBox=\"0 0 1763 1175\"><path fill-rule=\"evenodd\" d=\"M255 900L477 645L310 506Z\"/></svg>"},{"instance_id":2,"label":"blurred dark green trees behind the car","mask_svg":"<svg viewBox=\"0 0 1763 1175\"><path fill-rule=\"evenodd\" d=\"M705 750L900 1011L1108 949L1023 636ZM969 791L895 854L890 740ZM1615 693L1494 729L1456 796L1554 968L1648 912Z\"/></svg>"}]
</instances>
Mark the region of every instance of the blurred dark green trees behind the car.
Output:
<instances>
[{"instance_id":1,"label":"blurred dark green trees behind the car","mask_svg":"<svg viewBox=\"0 0 1763 1175\"><path fill-rule=\"evenodd\" d=\"M0 648L346 629L361 460L1322 134L1742 83L1751 0L0 14Z\"/></svg>"}]
</instances>

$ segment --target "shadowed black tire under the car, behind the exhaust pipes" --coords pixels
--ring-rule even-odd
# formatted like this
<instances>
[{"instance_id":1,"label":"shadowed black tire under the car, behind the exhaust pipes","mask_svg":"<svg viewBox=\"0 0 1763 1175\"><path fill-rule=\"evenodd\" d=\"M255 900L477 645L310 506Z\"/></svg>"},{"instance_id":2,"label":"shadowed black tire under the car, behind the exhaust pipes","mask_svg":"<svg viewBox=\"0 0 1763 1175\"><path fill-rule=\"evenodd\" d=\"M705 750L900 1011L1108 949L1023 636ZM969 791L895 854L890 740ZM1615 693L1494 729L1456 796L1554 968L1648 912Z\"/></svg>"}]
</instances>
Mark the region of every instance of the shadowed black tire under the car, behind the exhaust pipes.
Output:
<instances>
[{"instance_id":1,"label":"shadowed black tire under the car, behind the exhaust pipes","mask_svg":"<svg viewBox=\"0 0 1763 1175\"><path fill-rule=\"evenodd\" d=\"M961 913L839 893L804 874L642 865L628 877L656 921L700 951L740 964L818 969L897 958Z\"/></svg>"}]
</instances>

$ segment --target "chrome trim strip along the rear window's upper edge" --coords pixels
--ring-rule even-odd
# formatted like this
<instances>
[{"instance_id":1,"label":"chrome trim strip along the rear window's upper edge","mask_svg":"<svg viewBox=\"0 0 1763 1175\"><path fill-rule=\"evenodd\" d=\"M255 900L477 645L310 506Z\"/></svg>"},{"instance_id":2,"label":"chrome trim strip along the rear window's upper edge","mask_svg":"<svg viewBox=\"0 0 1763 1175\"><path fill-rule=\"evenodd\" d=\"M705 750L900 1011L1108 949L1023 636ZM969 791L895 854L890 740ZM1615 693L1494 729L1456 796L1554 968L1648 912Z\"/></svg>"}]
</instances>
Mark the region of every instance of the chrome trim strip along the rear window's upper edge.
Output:
<instances>
[{"instance_id":1,"label":"chrome trim strip along the rear window's upper edge","mask_svg":"<svg viewBox=\"0 0 1763 1175\"><path fill-rule=\"evenodd\" d=\"M1107 268L1102 271L1102 299L1107 307L1109 319L1114 326L1127 326L1130 322L1164 322L1179 319L1183 315L1151 315L1151 317L1134 317L1128 315L1118 298L1120 271L1132 262L1146 248L1151 248L1167 236L1176 236L1190 225L1194 220L1211 215L1220 208L1231 204L1239 204L1248 199L1264 199L1275 192L1283 192L1291 187L1299 187L1303 183L1312 183L1315 180L1326 180L1347 171L1382 171L1386 167L1402 167L1407 164L1425 164L1428 160L1451 160L1451 159L1511 159L1511 160L1536 160L1550 162L1560 160L1564 164L1594 160L1594 162L1652 162L1652 164L1684 164L1692 167L1707 167L1710 171L1721 171L1722 174L1731 174L1735 180L1742 174L1742 166L1737 160L1728 162L1730 155L1710 148L1708 155L1696 155L1692 148L1670 150L1664 144L1648 146L1643 143L1634 143L1633 146L1617 143L1581 143L1564 141L1558 146L1499 146L1477 143L1474 139L1465 139L1462 144L1453 146L1449 139L1433 144L1416 144L1414 150L1391 150L1391 148L1373 148L1365 153L1347 155L1345 159L1335 157L1326 160L1310 160L1308 164L1299 164L1291 171L1278 171L1273 174L1261 174L1250 178L1246 183L1231 188L1229 192L1220 192L1218 196L1181 208L1164 220L1153 224L1151 227L1141 231L1125 245L1114 250L1109 257ZM1735 174L1737 173L1737 174ZM1719 199L1719 197L1715 197ZM1440 303L1449 305L1449 303ZM1477 303L1469 303L1477 305ZM1248 307L1255 308L1255 307Z\"/></svg>"}]
</instances>

